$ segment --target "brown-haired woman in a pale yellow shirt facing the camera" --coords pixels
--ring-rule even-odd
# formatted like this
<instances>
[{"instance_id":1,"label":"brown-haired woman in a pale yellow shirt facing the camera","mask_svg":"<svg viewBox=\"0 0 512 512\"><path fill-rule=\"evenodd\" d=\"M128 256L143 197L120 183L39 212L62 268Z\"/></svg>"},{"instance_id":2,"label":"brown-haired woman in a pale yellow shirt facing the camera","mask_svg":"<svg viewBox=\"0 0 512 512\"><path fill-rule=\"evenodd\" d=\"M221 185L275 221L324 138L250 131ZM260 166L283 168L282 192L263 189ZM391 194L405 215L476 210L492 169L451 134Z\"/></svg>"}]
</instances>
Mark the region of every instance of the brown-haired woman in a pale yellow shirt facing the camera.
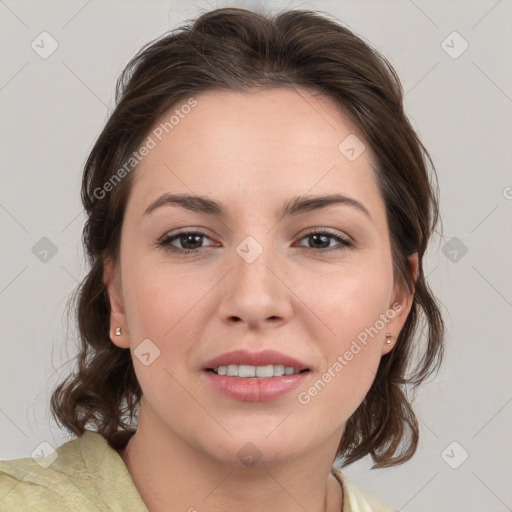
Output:
<instances>
[{"instance_id":1,"label":"brown-haired woman in a pale yellow shirt facing the camera","mask_svg":"<svg viewBox=\"0 0 512 512\"><path fill-rule=\"evenodd\" d=\"M225 8L117 93L51 403L78 437L2 462L2 510L391 510L333 463L410 459L405 386L442 355L438 199L395 72L323 15Z\"/></svg>"}]
</instances>

